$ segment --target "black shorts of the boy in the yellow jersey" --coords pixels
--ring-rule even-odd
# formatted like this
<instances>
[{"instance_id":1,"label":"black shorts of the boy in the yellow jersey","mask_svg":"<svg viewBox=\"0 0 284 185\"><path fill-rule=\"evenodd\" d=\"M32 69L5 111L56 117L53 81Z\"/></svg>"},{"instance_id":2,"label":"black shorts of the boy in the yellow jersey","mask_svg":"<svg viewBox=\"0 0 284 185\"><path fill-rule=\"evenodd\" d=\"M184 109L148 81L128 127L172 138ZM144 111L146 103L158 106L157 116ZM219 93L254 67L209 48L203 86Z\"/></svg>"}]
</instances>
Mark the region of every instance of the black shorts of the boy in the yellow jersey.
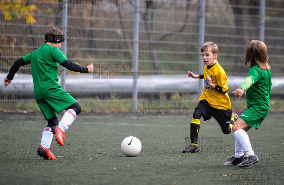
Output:
<instances>
[{"instance_id":1,"label":"black shorts of the boy in the yellow jersey","mask_svg":"<svg viewBox=\"0 0 284 185\"><path fill-rule=\"evenodd\" d=\"M207 121L213 117L221 126L221 128L229 127L229 123L232 117L232 109L222 110L213 108L206 100L200 101L196 108L202 111L202 117L204 121Z\"/></svg>"}]
</instances>

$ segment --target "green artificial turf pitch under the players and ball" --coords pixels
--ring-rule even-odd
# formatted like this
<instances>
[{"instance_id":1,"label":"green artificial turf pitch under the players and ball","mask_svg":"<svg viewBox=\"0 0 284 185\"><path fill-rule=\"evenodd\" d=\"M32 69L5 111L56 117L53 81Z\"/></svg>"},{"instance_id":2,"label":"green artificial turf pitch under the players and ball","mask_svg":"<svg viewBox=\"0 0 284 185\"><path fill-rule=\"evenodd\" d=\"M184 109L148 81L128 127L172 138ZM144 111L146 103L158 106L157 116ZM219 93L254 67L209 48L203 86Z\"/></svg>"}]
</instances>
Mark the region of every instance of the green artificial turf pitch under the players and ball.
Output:
<instances>
[{"instance_id":1,"label":"green artificial turf pitch under the players and ball","mask_svg":"<svg viewBox=\"0 0 284 185\"><path fill-rule=\"evenodd\" d=\"M246 168L223 165L234 154L234 137L214 119L201 121L201 151L182 153L191 116L80 114L64 146L53 140L52 161L37 155L47 125L41 113L0 113L0 185L283 185L284 114L271 113L248 131L260 161ZM120 150L127 136L142 143L136 157Z\"/></svg>"}]
</instances>

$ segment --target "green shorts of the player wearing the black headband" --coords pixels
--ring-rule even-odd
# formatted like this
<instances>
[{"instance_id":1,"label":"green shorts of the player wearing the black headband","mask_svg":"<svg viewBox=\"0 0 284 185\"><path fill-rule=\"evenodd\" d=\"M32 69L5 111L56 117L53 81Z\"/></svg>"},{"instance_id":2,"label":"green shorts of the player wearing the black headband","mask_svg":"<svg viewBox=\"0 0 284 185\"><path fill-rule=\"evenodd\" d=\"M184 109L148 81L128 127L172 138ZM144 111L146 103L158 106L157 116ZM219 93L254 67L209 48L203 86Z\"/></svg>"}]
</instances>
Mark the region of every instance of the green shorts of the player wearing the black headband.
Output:
<instances>
[{"instance_id":1,"label":"green shorts of the player wearing the black headband","mask_svg":"<svg viewBox=\"0 0 284 185\"><path fill-rule=\"evenodd\" d=\"M51 119L57 118L57 113L66 109L77 101L66 91L57 93L50 97L36 100L44 118Z\"/></svg>"}]
</instances>

